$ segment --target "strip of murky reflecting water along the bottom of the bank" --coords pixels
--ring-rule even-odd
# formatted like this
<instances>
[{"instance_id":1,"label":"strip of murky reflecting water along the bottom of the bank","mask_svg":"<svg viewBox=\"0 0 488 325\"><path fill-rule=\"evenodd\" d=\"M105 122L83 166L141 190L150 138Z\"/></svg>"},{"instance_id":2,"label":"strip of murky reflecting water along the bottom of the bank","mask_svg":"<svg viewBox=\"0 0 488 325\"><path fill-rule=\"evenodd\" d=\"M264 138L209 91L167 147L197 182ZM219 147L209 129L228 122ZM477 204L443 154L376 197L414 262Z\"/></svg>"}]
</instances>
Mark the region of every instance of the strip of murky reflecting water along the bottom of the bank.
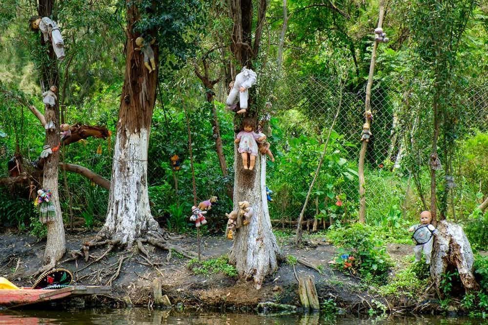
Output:
<instances>
[{"instance_id":1,"label":"strip of murky reflecting water along the bottom of the bank","mask_svg":"<svg viewBox=\"0 0 488 325\"><path fill-rule=\"evenodd\" d=\"M467 317L444 316L408 316L408 317L376 317L358 318L352 316L326 315L282 315L262 316L254 314L219 313L219 312L177 312L174 310L130 309L87 309L79 311L56 310L4 310L0 311L0 325L162 325L162 324L209 324L209 325L240 325L240 324L338 324L338 325L407 325L407 324L488 324L488 320Z\"/></svg>"}]
</instances>

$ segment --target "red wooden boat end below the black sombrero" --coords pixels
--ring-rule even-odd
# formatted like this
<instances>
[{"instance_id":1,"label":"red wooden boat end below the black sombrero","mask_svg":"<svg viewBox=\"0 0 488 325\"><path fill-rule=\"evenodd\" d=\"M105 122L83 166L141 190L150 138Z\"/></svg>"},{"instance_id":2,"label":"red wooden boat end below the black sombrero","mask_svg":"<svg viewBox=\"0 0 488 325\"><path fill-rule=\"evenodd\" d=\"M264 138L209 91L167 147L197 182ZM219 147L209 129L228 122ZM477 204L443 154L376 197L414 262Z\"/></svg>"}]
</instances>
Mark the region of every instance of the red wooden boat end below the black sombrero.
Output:
<instances>
[{"instance_id":1,"label":"red wooden boat end below the black sombrero","mask_svg":"<svg viewBox=\"0 0 488 325\"><path fill-rule=\"evenodd\" d=\"M0 290L0 306L17 307L50 302L66 297L79 297L87 295L108 295L110 286L71 285L61 289L32 289L21 288L13 290Z\"/></svg>"}]
</instances>

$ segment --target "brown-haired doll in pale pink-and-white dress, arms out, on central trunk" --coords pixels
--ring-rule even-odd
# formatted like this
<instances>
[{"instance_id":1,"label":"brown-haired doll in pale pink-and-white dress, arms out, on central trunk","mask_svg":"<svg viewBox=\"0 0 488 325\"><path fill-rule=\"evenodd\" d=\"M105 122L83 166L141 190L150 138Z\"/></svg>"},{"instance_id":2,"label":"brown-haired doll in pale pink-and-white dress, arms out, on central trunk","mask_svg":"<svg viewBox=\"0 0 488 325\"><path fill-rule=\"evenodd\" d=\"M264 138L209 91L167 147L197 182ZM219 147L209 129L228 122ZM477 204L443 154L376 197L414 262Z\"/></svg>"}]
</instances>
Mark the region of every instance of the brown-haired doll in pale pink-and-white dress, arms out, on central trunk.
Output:
<instances>
[{"instance_id":1,"label":"brown-haired doll in pale pink-and-white dress, arms out, on central trunk","mask_svg":"<svg viewBox=\"0 0 488 325\"><path fill-rule=\"evenodd\" d=\"M239 143L237 151L241 154L243 159L244 169L253 170L256 163L256 156L258 155L258 144L266 139L266 136L260 136L253 132L254 120L252 118L245 118L243 121L244 131L237 134L235 143ZM247 167L247 157L249 157L249 167Z\"/></svg>"}]
</instances>

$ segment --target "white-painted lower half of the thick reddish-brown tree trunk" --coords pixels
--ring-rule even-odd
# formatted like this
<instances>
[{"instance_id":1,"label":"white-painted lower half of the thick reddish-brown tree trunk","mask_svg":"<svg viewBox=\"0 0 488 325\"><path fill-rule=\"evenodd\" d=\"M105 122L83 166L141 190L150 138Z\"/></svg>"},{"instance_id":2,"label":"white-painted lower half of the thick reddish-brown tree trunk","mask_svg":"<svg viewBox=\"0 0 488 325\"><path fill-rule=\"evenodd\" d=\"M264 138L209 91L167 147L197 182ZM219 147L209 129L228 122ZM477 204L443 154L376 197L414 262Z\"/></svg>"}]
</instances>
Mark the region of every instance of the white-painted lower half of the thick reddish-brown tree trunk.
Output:
<instances>
[{"instance_id":1,"label":"white-painted lower half of the thick reddish-brown tree trunk","mask_svg":"<svg viewBox=\"0 0 488 325\"><path fill-rule=\"evenodd\" d=\"M128 246L138 237L161 234L149 207L148 144L147 129L130 133L122 128L117 132L107 219L101 232Z\"/></svg>"}]
</instances>

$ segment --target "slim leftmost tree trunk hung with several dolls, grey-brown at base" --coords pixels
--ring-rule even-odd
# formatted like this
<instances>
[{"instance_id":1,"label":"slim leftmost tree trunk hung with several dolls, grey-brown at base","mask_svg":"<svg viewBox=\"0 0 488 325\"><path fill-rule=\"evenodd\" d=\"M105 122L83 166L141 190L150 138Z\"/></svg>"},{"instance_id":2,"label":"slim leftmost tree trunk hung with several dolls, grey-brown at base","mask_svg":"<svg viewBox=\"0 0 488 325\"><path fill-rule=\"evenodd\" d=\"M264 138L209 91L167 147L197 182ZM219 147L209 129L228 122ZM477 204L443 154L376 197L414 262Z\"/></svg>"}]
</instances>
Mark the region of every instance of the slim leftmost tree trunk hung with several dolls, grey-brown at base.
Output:
<instances>
[{"instance_id":1,"label":"slim leftmost tree trunk hung with several dolls, grey-brown at base","mask_svg":"<svg viewBox=\"0 0 488 325\"><path fill-rule=\"evenodd\" d=\"M38 13L41 17L50 17L52 15L52 9L54 7L54 0L39 0ZM40 36L41 44L44 43L42 35ZM54 53L52 43L48 42L49 48L49 61L48 64L41 67L42 77L41 85L42 91L48 90L51 85L55 85L59 88L59 73L58 73L58 59ZM56 130L54 132L46 131L46 144L49 144L51 148L60 145L60 110L59 110L59 98L56 101L54 107L54 121ZM44 162L44 175L42 178L42 187L50 189L53 193L51 202L56 208L56 215L54 218L48 220L47 226L47 241L46 249L44 251L44 264L46 266L41 268L40 271L46 271L55 266L56 262L61 259L66 251L66 243L64 237L64 224L62 220L61 205L59 202L58 193L58 163L59 163L59 150L53 152Z\"/></svg>"}]
</instances>

